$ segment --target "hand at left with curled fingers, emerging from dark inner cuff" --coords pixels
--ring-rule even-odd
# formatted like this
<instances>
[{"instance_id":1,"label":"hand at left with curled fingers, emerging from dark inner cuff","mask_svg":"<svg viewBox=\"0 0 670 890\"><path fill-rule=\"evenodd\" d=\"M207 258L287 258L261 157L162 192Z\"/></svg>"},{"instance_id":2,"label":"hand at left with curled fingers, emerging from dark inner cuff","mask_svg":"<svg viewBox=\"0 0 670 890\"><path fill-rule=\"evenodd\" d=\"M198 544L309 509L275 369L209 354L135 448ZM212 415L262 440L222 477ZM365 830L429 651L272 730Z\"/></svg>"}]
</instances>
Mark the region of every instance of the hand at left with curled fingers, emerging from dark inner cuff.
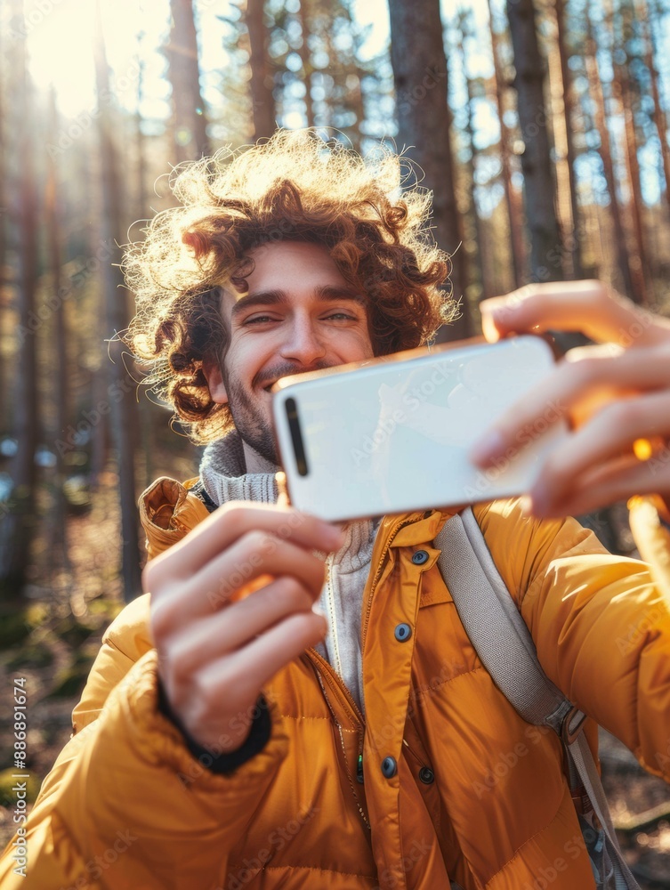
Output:
<instances>
[{"instance_id":1,"label":"hand at left with curled fingers, emerging from dark inner cuff","mask_svg":"<svg viewBox=\"0 0 670 890\"><path fill-rule=\"evenodd\" d=\"M239 502L148 563L158 672L198 744L239 748L262 685L324 637L312 605L325 565L313 551L342 543L338 528L291 507Z\"/></svg>"}]
</instances>

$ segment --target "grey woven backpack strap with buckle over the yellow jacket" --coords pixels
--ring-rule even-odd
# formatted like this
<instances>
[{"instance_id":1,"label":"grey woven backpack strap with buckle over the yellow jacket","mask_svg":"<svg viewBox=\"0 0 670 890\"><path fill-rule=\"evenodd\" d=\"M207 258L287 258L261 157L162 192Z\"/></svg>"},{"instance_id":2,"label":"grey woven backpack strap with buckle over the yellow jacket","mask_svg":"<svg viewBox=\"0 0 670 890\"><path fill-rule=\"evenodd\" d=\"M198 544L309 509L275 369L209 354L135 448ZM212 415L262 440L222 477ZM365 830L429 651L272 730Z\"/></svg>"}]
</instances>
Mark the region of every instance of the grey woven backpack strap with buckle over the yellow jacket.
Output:
<instances>
[{"instance_id":1,"label":"grey woven backpack strap with buckle over the yellow jacket","mask_svg":"<svg viewBox=\"0 0 670 890\"><path fill-rule=\"evenodd\" d=\"M561 737L573 797L585 792L604 835L600 847L606 847L609 874L596 868L591 855L597 886L639 890L619 848L593 754L581 732L585 714L545 675L530 631L470 507L445 522L434 546L440 550L438 565L458 617L493 682L527 723L550 726Z\"/></svg>"}]
</instances>

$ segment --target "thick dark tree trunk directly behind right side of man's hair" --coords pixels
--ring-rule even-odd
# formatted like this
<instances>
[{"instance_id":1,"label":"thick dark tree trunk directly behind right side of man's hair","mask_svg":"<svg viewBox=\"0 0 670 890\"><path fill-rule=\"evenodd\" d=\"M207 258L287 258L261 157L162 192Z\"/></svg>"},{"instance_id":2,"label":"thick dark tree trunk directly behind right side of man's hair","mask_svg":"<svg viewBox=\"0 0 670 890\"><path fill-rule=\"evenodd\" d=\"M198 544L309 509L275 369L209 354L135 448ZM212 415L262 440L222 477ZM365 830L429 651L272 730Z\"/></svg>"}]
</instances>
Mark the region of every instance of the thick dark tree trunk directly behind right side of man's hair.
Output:
<instances>
[{"instance_id":1,"label":"thick dark tree trunk directly behind right side of man's hair","mask_svg":"<svg viewBox=\"0 0 670 890\"><path fill-rule=\"evenodd\" d=\"M451 284L461 317L440 335L459 340L472 334L465 299L465 256L456 206L454 161L449 136L448 69L442 40L439 0L389 0L391 61L396 91L398 145L424 172L421 184L432 190L433 224L438 245L451 255Z\"/></svg>"}]
</instances>

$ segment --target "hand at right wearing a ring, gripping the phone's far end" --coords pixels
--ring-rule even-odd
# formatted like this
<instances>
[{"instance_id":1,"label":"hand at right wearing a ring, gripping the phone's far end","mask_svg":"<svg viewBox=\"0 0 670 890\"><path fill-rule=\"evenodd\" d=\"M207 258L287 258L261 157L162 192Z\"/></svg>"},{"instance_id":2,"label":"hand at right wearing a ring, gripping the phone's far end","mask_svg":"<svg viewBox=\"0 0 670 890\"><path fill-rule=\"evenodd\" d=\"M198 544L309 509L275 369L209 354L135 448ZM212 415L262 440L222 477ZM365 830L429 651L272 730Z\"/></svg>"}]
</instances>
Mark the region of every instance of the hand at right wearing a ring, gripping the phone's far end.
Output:
<instances>
[{"instance_id":1,"label":"hand at right wearing a ring, gripping the phone's far end","mask_svg":"<svg viewBox=\"0 0 670 890\"><path fill-rule=\"evenodd\" d=\"M570 350L498 418L472 450L473 461L487 467L518 448L521 436L528 441L528 431L544 432L559 405L571 429L537 473L533 515L585 514L633 495L660 495L670 505L670 320L600 281L529 285L480 310L491 342L554 329L583 331L601 345Z\"/></svg>"}]
</instances>

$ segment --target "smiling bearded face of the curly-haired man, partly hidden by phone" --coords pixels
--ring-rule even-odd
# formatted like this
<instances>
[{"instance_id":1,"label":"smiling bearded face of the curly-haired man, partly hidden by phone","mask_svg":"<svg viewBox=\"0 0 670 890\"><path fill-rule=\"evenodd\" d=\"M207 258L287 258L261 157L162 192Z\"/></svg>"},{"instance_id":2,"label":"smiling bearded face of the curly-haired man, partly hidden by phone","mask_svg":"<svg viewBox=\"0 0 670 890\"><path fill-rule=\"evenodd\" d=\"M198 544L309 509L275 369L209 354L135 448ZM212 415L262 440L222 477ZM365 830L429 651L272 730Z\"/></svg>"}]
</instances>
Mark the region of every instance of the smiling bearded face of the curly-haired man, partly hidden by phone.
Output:
<instances>
[{"instance_id":1,"label":"smiling bearded face of the curly-haired man, partly hidden by phone","mask_svg":"<svg viewBox=\"0 0 670 890\"><path fill-rule=\"evenodd\" d=\"M369 359L373 350L364 296L347 284L326 247L278 241L249 256L248 293L223 293L230 344L213 397L229 403L242 440L278 464L270 386L279 377Z\"/></svg>"}]
</instances>

